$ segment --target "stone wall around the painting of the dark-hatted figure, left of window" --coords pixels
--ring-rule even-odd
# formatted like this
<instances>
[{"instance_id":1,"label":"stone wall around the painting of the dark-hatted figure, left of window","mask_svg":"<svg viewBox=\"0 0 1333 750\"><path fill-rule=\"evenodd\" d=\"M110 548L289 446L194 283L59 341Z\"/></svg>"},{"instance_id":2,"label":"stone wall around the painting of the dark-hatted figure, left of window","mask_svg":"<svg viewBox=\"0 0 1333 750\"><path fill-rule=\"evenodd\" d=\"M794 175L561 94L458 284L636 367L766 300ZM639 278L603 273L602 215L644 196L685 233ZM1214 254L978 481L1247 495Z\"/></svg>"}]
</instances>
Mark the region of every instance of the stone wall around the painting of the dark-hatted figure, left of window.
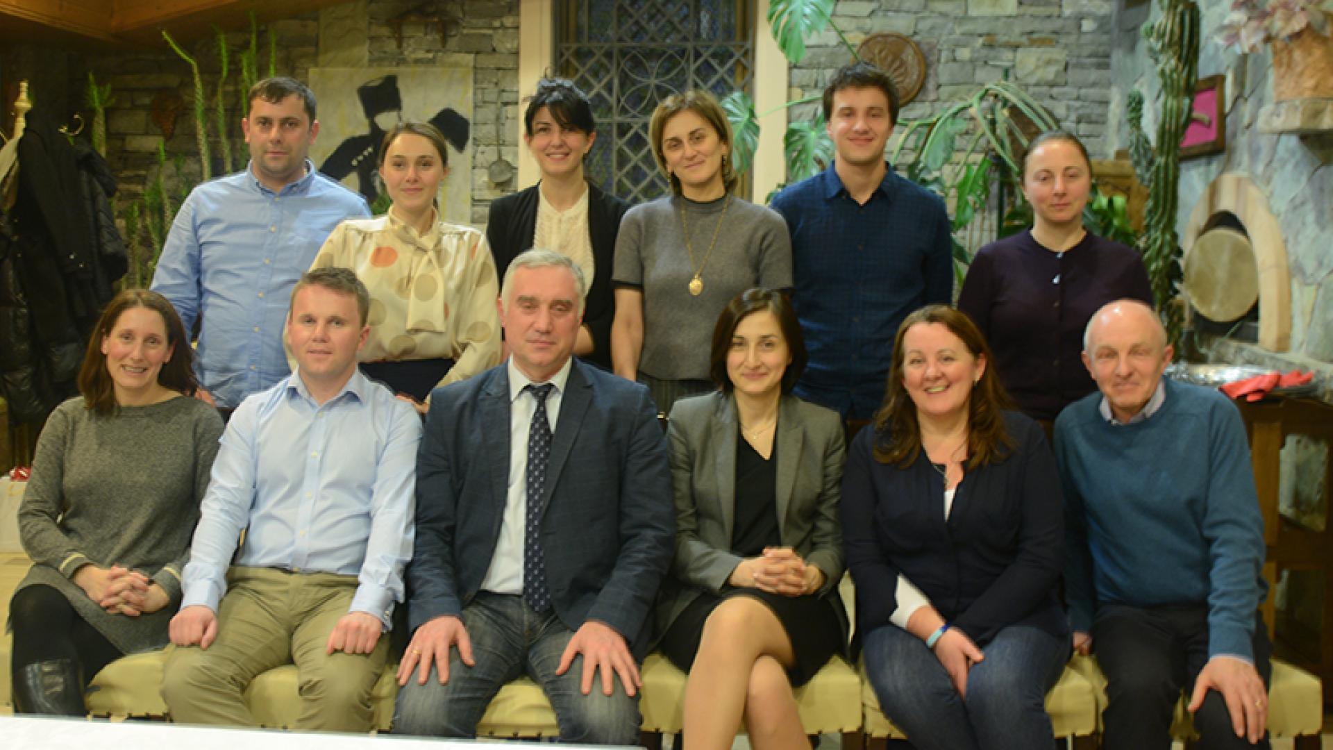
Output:
<instances>
[{"instance_id":1,"label":"stone wall around the painting of the dark-hatted figure, left of window","mask_svg":"<svg viewBox=\"0 0 1333 750\"><path fill-rule=\"evenodd\" d=\"M403 45L395 36L395 20L403 17ZM431 20L447 20L444 40ZM403 67L439 64L448 55L473 57L472 220L483 224L489 202L513 188L511 180L495 184L488 168L497 160L516 164L519 144L513 127L519 116L519 0L355 0L320 12L273 21L260 27L260 75L267 72L265 32L279 40L276 71L307 80L312 67ZM240 133L240 97L236 91L237 53L248 44L248 32L228 33L231 73L227 84L227 123L233 163L245 161ZM213 133L213 173L228 171L219 156L212 96L219 77L215 39L189 40L187 51L196 57L209 97L208 121ZM163 92L175 92L184 107L175 117L175 133L167 140L167 153L184 157L184 175L168 164L169 185L195 184L201 168L195 141L191 109L193 83L189 67L169 51L160 53L108 53L76 56L71 68L71 89L81 92L87 71L100 83L109 83L115 105L107 112L107 156L127 198L139 195L157 169L157 144L163 131L153 121L152 101ZM317 92L316 92L317 93ZM75 103L81 96L75 96Z\"/></svg>"}]
</instances>

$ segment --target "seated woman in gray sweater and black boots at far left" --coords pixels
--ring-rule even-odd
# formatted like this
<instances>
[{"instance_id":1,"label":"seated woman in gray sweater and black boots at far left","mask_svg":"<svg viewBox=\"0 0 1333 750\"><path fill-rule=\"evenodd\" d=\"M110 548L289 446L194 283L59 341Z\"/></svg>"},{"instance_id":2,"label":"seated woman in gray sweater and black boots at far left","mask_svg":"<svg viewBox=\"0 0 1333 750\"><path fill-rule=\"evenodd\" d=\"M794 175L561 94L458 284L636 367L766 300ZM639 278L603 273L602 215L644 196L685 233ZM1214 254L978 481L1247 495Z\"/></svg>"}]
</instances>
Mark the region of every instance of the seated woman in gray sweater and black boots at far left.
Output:
<instances>
[{"instance_id":1,"label":"seated woman in gray sweater and black boots at far left","mask_svg":"<svg viewBox=\"0 0 1333 750\"><path fill-rule=\"evenodd\" d=\"M223 432L191 398L192 354L164 296L120 292L88 342L81 395L41 430L19 507L35 565L9 603L16 713L81 715L101 667L167 645Z\"/></svg>"}]
</instances>

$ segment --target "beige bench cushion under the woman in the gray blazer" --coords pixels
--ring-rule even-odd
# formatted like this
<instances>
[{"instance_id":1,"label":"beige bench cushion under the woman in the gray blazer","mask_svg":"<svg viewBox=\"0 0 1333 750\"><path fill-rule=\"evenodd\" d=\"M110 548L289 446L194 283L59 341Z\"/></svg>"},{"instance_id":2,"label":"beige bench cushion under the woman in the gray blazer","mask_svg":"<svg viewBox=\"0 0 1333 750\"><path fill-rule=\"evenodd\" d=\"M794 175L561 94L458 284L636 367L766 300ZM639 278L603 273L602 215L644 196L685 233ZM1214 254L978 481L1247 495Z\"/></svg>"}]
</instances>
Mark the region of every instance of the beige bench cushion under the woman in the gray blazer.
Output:
<instances>
[{"instance_id":1,"label":"beige bench cushion under the woman in the gray blazer","mask_svg":"<svg viewBox=\"0 0 1333 750\"><path fill-rule=\"evenodd\" d=\"M676 734L685 722L685 673L661 654L649 654L640 670L644 695L639 710L644 731ZM796 689L796 709L806 734L841 734L861 726L861 679L842 657L833 657Z\"/></svg>"}]
</instances>

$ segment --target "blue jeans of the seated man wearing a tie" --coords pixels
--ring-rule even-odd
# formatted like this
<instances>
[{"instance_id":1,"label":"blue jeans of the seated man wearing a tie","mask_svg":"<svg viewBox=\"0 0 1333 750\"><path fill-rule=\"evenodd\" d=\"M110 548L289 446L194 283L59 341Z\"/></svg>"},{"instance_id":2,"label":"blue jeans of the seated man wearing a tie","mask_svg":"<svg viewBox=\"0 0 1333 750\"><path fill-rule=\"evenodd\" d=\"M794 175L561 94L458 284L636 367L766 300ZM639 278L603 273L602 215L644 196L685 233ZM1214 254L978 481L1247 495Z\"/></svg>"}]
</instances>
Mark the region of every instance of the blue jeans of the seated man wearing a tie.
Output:
<instances>
[{"instance_id":1,"label":"blue jeans of the seated man wearing a tie","mask_svg":"<svg viewBox=\"0 0 1333 750\"><path fill-rule=\"evenodd\" d=\"M476 666L467 666L459 650L449 651L449 682L440 685L436 669L425 685L416 675L399 690L393 709L395 734L476 737L491 699L507 682L527 674L545 691L560 723L560 739L583 745L637 745L639 698L625 694L615 677L611 695L601 691L601 675L584 695L583 655L569 671L556 675L560 655L573 631L555 613L535 613L523 597L477 594L463 610Z\"/></svg>"}]
</instances>

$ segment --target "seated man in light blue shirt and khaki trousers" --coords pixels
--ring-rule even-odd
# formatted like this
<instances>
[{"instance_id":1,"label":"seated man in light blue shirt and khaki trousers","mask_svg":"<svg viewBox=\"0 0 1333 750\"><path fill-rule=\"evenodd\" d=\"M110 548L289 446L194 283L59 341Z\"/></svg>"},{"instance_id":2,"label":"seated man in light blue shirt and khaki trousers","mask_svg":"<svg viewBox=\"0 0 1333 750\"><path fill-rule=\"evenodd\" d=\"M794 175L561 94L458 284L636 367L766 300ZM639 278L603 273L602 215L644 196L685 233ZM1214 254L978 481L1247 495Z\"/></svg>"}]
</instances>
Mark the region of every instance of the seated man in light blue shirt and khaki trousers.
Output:
<instances>
[{"instance_id":1,"label":"seated man in light blue shirt and khaki trousers","mask_svg":"<svg viewBox=\"0 0 1333 750\"><path fill-rule=\"evenodd\" d=\"M245 399L223 435L171 622L161 694L177 722L253 725L245 687L295 662L296 729L371 727L412 556L421 420L356 367L369 306L348 268L301 276L296 372Z\"/></svg>"}]
</instances>

